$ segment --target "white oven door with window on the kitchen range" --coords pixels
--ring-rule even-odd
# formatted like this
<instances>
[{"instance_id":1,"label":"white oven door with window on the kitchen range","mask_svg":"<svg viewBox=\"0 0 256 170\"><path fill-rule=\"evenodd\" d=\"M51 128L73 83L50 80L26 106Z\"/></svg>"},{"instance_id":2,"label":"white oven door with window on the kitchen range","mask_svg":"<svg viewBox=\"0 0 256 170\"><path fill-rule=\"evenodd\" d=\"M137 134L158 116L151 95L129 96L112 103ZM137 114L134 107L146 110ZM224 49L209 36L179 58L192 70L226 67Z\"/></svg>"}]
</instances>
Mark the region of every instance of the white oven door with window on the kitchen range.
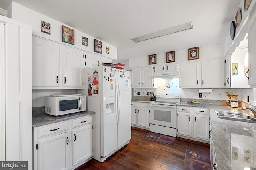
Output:
<instances>
[{"instance_id":1,"label":"white oven door with window on the kitchen range","mask_svg":"<svg viewBox=\"0 0 256 170\"><path fill-rule=\"evenodd\" d=\"M150 104L150 124L176 128L176 106Z\"/></svg>"}]
</instances>

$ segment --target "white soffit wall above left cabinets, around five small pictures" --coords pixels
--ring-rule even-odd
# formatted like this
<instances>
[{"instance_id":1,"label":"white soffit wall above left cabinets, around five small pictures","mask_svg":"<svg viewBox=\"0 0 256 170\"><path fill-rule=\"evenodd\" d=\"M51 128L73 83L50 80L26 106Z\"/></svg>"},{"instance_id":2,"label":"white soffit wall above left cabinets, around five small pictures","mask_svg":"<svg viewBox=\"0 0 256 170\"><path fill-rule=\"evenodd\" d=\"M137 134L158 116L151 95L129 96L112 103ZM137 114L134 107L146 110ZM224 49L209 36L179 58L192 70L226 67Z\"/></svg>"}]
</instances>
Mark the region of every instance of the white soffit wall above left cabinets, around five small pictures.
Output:
<instances>
[{"instance_id":1,"label":"white soffit wall above left cabinets, around five small pictures","mask_svg":"<svg viewBox=\"0 0 256 170\"><path fill-rule=\"evenodd\" d=\"M40 37L44 37L46 39L50 39L52 41L56 41L59 43L64 43L62 42L62 33L61 33L62 25L70 27L69 25L66 25L57 20L54 20L53 18L50 18L36 11L33 11L29 8L21 6L16 2L12 2L10 7L8 8L8 17L14 20L22 21L23 23L32 25L33 35L38 35ZM51 24L51 35L41 32L41 20ZM102 46L103 46L102 54L96 53L94 52L94 39L95 39L94 37L75 29L74 27L70 27L70 28L75 30L75 44L70 45L68 43L64 43L65 45L76 47L78 49L92 52L97 55L108 57L111 59L117 59L117 48L114 47L113 45L110 45L102 41ZM82 45L82 36L88 38L88 46ZM106 54L105 52L106 46L110 47L110 54Z\"/></svg>"}]
</instances>

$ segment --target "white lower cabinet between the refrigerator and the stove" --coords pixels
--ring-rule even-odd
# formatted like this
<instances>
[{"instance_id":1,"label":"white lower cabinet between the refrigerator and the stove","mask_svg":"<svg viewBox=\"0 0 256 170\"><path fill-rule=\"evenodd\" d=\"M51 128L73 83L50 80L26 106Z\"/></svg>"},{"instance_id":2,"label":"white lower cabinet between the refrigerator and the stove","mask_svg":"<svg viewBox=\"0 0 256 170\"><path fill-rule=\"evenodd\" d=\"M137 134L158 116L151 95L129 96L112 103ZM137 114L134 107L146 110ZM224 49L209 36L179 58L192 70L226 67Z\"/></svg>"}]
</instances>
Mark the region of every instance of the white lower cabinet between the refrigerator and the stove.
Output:
<instances>
[{"instance_id":1,"label":"white lower cabinet between the refrigerator and the stove","mask_svg":"<svg viewBox=\"0 0 256 170\"><path fill-rule=\"evenodd\" d=\"M149 104L131 102L132 126L149 129Z\"/></svg>"}]
</instances>

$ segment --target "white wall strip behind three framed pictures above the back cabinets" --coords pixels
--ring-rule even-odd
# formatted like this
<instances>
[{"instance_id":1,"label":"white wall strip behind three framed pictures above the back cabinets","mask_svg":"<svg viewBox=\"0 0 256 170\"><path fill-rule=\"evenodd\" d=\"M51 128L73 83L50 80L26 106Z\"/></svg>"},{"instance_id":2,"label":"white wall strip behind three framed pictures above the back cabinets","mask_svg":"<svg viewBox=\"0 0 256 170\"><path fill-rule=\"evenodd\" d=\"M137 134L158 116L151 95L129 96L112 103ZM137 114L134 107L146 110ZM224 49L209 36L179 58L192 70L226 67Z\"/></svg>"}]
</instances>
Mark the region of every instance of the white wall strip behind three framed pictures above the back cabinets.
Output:
<instances>
[{"instance_id":1,"label":"white wall strip behind three framed pictures above the back cabinets","mask_svg":"<svg viewBox=\"0 0 256 170\"><path fill-rule=\"evenodd\" d=\"M202 46L200 47L199 52L199 60L224 57L224 43ZM184 62L187 60L188 49L175 51L175 63ZM165 64L165 52L156 54L156 64ZM148 66L148 56L134 57L129 59L130 68L138 66Z\"/></svg>"}]
</instances>

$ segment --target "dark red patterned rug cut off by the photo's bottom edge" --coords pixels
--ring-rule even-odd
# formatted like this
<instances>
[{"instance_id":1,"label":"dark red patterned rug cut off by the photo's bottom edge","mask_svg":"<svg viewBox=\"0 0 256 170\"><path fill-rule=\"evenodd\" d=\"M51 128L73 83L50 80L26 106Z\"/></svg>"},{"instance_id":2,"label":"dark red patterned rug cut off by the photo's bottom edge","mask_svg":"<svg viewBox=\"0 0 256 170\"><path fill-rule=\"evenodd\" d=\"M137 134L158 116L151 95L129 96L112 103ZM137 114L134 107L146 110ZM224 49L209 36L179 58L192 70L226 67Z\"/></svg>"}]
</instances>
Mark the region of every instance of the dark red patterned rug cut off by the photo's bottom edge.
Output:
<instances>
[{"instance_id":1,"label":"dark red patterned rug cut off by the photo's bottom edge","mask_svg":"<svg viewBox=\"0 0 256 170\"><path fill-rule=\"evenodd\" d=\"M211 170L210 154L186 149L184 170Z\"/></svg>"}]
</instances>

